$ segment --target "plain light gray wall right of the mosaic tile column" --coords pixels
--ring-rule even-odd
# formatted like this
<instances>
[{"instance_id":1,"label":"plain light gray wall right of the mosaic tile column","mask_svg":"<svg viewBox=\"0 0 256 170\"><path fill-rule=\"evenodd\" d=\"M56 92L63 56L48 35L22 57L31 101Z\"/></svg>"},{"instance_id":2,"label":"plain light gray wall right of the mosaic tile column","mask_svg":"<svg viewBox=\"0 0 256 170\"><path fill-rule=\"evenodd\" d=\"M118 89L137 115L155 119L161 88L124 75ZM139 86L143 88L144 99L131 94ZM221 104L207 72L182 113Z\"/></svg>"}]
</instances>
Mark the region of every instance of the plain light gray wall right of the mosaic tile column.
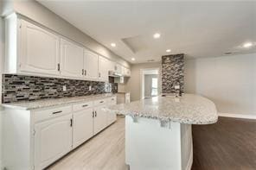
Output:
<instances>
[{"instance_id":1,"label":"plain light gray wall right of the mosaic tile column","mask_svg":"<svg viewBox=\"0 0 256 170\"><path fill-rule=\"evenodd\" d=\"M185 60L185 92L213 100L221 113L256 116L256 54Z\"/></svg>"}]
</instances>

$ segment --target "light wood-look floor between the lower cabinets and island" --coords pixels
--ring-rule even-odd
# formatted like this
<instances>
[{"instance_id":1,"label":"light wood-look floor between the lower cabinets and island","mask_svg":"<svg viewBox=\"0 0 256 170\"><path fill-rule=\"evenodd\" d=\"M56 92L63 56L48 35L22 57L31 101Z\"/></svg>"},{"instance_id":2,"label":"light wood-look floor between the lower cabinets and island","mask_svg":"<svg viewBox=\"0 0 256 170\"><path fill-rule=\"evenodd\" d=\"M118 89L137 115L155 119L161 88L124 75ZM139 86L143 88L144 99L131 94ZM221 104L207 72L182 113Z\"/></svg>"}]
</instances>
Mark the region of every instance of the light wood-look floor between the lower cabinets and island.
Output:
<instances>
[{"instance_id":1,"label":"light wood-look floor between the lower cabinets and island","mask_svg":"<svg viewBox=\"0 0 256 170\"><path fill-rule=\"evenodd\" d=\"M94 136L60 161L50 170L126 170L125 118Z\"/></svg>"}]
</instances>

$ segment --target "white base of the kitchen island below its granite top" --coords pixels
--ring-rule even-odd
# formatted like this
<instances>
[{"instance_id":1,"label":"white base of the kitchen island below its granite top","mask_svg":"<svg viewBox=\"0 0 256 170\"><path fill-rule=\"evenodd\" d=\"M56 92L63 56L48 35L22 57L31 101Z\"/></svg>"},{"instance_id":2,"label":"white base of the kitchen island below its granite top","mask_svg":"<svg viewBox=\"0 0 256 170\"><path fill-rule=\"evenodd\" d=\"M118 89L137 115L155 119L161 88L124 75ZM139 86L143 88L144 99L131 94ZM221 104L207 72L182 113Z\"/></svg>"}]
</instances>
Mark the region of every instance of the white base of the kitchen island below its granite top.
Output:
<instances>
[{"instance_id":1,"label":"white base of the kitchen island below its granite top","mask_svg":"<svg viewBox=\"0 0 256 170\"><path fill-rule=\"evenodd\" d=\"M189 170L193 161L190 124L125 116L125 163L131 170Z\"/></svg>"}]
</instances>

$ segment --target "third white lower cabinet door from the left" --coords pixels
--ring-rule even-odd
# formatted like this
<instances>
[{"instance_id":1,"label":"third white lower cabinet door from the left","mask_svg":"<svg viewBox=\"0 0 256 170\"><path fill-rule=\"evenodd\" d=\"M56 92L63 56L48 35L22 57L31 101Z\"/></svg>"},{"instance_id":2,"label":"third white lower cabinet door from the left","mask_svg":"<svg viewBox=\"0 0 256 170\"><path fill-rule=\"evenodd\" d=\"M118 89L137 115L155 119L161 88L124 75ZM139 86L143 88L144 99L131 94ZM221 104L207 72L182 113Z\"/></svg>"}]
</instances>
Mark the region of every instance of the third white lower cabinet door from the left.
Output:
<instances>
[{"instance_id":1,"label":"third white lower cabinet door from the left","mask_svg":"<svg viewBox=\"0 0 256 170\"><path fill-rule=\"evenodd\" d=\"M106 111L102 110L103 107L105 107L105 105L96 106L94 109L93 135L106 128Z\"/></svg>"}]
</instances>

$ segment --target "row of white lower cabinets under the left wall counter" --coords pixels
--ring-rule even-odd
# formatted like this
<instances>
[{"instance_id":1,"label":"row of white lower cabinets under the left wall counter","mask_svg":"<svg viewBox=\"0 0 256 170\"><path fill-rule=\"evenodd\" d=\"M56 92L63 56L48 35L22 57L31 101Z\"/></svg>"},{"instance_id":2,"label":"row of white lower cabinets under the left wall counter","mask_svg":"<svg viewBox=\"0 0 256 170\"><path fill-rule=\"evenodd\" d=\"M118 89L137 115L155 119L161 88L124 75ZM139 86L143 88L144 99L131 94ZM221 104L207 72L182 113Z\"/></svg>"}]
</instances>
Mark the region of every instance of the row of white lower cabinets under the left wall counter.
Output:
<instances>
[{"instance_id":1,"label":"row of white lower cabinets under the left wall counter","mask_svg":"<svg viewBox=\"0 0 256 170\"><path fill-rule=\"evenodd\" d=\"M116 97L38 110L3 113L3 165L11 170L42 170L116 120L102 110Z\"/></svg>"}]
</instances>

